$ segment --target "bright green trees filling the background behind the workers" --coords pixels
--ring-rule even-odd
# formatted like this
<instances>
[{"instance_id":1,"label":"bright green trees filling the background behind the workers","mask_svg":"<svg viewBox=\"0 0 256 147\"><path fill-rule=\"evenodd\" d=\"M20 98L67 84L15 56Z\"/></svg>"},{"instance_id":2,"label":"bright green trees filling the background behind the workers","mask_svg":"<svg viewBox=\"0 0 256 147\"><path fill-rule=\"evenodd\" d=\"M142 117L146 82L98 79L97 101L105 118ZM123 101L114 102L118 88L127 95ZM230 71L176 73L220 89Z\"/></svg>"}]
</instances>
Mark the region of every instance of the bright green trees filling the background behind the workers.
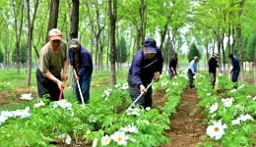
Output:
<instances>
[{"instance_id":1,"label":"bright green trees filling the background behind the workers","mask_svg":"<svg viewBox=\"0 0 256 147\"><path fill-rule=\"evenodd\" d=\"M251 34L256 20L254 0L10 0L0 6L5 14L0 22L6 30L0 32L5 64L16 54L19 73L21 46L26 44L28 85L32 62L37 62L47 31L53 27L62 30L68 43L74 37L82 40L93 55L96 71L110 65L112 84L116 62L129 65L147 37L159 41L164 63L173 52L181 54L184 44L199 48L207 60L214 52L222 54L222 63L229 53L239 57L241 66L256 59ZM188 28L185 34L184 27Z\"/></svg>"}]
</instances>

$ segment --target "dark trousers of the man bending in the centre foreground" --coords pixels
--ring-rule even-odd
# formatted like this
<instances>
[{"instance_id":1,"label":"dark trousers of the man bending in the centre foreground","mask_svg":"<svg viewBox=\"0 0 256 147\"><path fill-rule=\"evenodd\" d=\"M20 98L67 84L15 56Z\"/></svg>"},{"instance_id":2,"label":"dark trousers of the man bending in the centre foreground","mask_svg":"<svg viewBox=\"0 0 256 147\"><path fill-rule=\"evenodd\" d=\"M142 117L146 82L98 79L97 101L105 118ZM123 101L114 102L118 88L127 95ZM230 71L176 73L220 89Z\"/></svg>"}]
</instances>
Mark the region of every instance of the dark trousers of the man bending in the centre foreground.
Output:
<instances>
[{"instance_id":1,"label":"dark trousers of the man bending in the centre foreground","mask_svg":"<svg viewBox=\"0 0 256 147\"><path fill-rule=\"evenodd\" d=\"M144 83L143 85L145 88L148 86L150 83ZM132 102L134 102L141 94L140 87L133 81L132 75L128 73L128 86L129 86L129 93L131 96ZM138 105L141 105L146 109L147 107L152 107L152 86L149 87L148 91L146 94L142 95L141 98L135 103Z\"/></svg>"}]
</instances>

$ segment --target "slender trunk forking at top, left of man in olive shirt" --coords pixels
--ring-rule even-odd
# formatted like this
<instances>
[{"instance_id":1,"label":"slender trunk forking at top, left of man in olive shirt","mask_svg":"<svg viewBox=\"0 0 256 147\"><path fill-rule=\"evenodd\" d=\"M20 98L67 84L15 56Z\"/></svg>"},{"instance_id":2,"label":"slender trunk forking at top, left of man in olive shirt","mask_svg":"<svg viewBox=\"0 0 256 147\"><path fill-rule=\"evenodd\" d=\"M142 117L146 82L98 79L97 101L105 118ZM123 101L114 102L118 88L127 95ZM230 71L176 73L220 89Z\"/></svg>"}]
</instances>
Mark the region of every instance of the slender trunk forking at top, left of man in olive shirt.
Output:
<instances>
[{"instance_id":1,"label":"slender trunk forking at top, left of man in olive shirt","mask_svg":"<svg viewBox=\"0 0 256 147\"><path fill-rule=\"evenodd\" d=\"M30 86L31 85L31 78L32 78L32 30L33 30L33 24L34 24L34 19L35 15L37 12L38 8L38 0L34 1L34 6L33 6L33 13L32 13L32 20L31 20L31 6L30 6L30 0L27 0L27 10L28 10L28 27L29 27L29 32L28 32L28 60L27 60L27 79L26 79L26 85Z\"/></svg>"}]
</instances>

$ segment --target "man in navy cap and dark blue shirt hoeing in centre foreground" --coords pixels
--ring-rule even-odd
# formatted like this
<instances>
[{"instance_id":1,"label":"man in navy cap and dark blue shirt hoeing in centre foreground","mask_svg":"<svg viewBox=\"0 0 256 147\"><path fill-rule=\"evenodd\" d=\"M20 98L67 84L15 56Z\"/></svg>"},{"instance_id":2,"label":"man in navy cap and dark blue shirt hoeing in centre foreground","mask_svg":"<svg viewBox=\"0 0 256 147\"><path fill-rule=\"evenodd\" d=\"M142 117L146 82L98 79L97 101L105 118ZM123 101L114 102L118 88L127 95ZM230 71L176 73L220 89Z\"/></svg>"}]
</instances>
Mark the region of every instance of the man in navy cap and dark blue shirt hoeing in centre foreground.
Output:
<instances>
[{"instance_id":1,"label":"man in navy cap and dark blue shirt hoeing in centre foreground","mask_svg":"<svg viewBox=\"0 0 256 147\"><path fill-rule=\"evenodd\" d=\"M152 82L160 80L162 71L162 55L157 42L153 38L148 38L143 42L140 49L133 58L132 65L128 73L129 93L134 102L141 93L144 95L135 103L147 107L152 107L152 87L146 87Z\"/></svg>"}]
</instances>

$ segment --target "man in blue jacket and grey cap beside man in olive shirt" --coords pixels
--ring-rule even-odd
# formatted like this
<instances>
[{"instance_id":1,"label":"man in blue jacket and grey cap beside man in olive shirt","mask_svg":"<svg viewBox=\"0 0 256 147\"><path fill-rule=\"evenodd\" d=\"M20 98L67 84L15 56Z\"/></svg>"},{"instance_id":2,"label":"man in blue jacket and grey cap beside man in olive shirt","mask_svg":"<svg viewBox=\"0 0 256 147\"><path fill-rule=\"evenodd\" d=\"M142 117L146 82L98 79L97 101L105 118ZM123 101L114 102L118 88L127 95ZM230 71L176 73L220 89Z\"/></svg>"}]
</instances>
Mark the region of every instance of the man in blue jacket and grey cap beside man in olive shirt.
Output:
<instances>
[{"instance_id":1,"label":"man in blue jacket and grey cap beside man in olive shirt","mask_svg":"<svg viewBox=\"0 0 256 147\"><path fill-rule=\"evenodd\" d=\"M91 53L81 45L77 38L71 40L69 48L69 62L77 73L77 80L81 86L84 102L90 101L90 86L93 73L93 61ZM78 84L76 84L77 100L82 104Z\"/></svg>"}]
</instances>

